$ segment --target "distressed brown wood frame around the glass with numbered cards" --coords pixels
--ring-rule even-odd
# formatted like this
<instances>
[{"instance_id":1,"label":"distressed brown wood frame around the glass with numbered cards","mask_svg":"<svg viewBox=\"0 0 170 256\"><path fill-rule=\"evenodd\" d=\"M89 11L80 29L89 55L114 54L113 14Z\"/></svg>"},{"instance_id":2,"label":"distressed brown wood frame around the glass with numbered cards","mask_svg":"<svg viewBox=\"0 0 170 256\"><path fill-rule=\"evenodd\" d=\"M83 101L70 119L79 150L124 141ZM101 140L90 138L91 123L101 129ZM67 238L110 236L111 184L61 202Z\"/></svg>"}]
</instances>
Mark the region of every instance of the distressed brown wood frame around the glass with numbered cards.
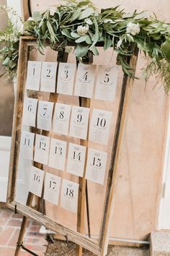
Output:
<instances>
[{"instance_id":1,"label":"distressed brown wood frame around the glass with numbered cards","mask_svg":"<svg viewBox=\"0 0 170 256\"><path fill-rule=\"evenodd\" d=\"M130 95L133 89L133 79L128 77L127 74L124 74L122 80L122 89L120 95L120 103L117 114L117 123L115 127L115 137L112 147L112 157L109 164L109 174L107 179L107 190L104 200L104 210L102 216L102 226L99 234L99 242L96 242L94 239L90 239L84 234L79 233L78 231L72 231L71 229L62 226L59 223L51 220L50 218L44 216L42 213L37 212L36 210L30 208L27 205L22 205L21 203L14 200L15 194L15 184L17 179L17 166L18 166L18 152L19 152L19 141L20 141L20 131L22 124L22 107L24 100L24 81L26 80L27 74L27 60L28 60L28 48L29 46L37 46L36 38L32 37L22 37L19 44L19 63L17 71L17 98L14 106L14 120L13 120L13 132L12 132L12 149L11 149L11 158L9 166L9 184L8 184L8 193L7 193L7 205L13 210L17 207L17 211L22 213L23 216L35 219L35 221L42 223L44 226L49 229L59 233L63 236L67 236L68 240L75 242L79 245L77 249L77 255L81 255L82 249L84 247L89 249L96 255L104 256L107 254L107 246L109 242L109 229L111 227L112 213L114 210L115 202L115 191L117 185L117 176L118 176L118 156L120 152L120 146L122 142L122 137L125 134L125 124L127 122L128 116L128 106L130 103ZM134 54L128 56L128 63L135 70L136 63L138 59L138 50L134 49ZM84 179L85 181L85 179ZM84 181L81 181L81 202L84 201ZM79 228L80 232L83 231L81 223L84 221L84 213L82 209L79 209L78 216L80 218Z\"/></svg>"}]
</instances>

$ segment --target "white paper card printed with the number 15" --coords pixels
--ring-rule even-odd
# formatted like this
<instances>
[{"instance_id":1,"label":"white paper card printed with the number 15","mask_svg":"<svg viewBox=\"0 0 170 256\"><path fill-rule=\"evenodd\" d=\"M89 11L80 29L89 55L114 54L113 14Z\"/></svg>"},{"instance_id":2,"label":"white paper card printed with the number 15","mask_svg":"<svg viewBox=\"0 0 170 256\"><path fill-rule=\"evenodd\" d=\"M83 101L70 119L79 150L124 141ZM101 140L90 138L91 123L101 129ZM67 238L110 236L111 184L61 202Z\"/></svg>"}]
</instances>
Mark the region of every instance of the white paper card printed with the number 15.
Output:
<instances>
[{"instance_id":1,"label":"white paper card printed with the number 15","mask_svg":"<svg viewBox=\"0 0 170 256\"><path fill-rule=\"evenodd\" d=\"M106 165L107 153L89 148L86 164L86 179L89 179L91 182L104 184Z\"/></svg>"}]
</instances>

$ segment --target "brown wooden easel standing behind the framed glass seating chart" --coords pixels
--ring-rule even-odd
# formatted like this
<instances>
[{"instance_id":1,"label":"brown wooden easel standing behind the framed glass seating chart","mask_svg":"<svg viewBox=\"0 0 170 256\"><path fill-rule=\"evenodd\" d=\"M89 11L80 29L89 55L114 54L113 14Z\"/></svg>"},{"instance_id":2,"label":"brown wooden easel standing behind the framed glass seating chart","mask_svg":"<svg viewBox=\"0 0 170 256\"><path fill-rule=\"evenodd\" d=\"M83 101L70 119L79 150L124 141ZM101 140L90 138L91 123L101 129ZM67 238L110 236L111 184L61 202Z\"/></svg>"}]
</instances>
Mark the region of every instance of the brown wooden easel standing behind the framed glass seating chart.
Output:
<instances>
[{"instance_id":1,"label":"brown wooden easel standing behind the framed glass seating chart","mask_svg":"<svg viewBox=\"0 0 170 256\"><path fill-rule=\"evenodd\" d=\"M58 62L67 62L68 59L68 54L65 51L58 51L58 58L57 61ZM93 60L92 55L90 54L89 58L84 59L84 63L85 64L91 64ZM77 62L78 64L78 62ZM57 102L58 101L58 95L56 93L50 93L50 98L49 101L53 101L53 102ZM81 98L79 97L79 106L83 106L83 107L90 107L90 99L88 98ZM37 127L37 125L36 125ZM36 132L37 128L33 128L32 127L32 132ZM49 132L46 131L41 131L40 132L42 135L48 136ZM86 142L84 140L80 140L80 145L86 145ZM86 158L85 158L85 163L87 161L87 150L86 150ZM37 168L43 168L41 163L34 163L34 166ZM84 166L84 171L86 169L86 166ZM88 199L88 187L87 187L87 181L85 178L81 178L79 177L79 202L78 202L78 213L77 213L77 231L80 233L83 233L84 231L84 214L85 214L85 202L86 202L86 210L87 210L87 222L88 222L88 233L89 233L89 237L90 237L90 221L89 221L89 199ZM43 184L44 187L44 184ZM43 190L43 189L42 189ZM42 192L43 194L43 192ZM28 193L28 197L27 197L27 202L26 205L27 206L31 206L32 205L32 200L35 197L35 195L33 195L31 192ZM45 214L45 207L44 207L44 200L41 199L42 203L41 203L41 212L42 214ZM17 209L16 209L16 213L17 213ZM18 237L18 241L17 241L17 247L16 247L16 251L15 251L15 256L19 255L19 249L22 247L22 249L26 250L27 252L30 252L30 254L32 255L36 255L34 252L31 252L30 249L27 249L26 247L24 247L23 245L23 239L24 239L24 233L27 227L27 217L23 216L22 219L22 226L21 229L19 231L19 237ZM82 247L77 245L76 247L76 255L82 255Z\"/></svg>"}]
</instances>

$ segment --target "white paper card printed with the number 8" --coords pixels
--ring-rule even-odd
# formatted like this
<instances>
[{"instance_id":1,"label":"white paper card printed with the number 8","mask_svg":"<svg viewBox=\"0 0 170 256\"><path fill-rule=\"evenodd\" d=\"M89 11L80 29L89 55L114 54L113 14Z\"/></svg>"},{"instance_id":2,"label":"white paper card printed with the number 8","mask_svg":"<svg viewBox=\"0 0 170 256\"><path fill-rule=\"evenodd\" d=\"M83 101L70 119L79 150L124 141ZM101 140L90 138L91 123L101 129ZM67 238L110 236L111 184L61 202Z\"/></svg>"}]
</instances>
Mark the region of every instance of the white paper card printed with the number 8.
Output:
<instances>
[{"instance_id":1,"label":"white paper card printed with the number 8","mask_svg":"<svg viewBox=\"0 0 170 256\"><path fill-rule=\"evenodd\" d=\"M60 135L68 135L70 113L71 105L55 104L53 132L57 132Z\"/></svg>"}]
</instances>

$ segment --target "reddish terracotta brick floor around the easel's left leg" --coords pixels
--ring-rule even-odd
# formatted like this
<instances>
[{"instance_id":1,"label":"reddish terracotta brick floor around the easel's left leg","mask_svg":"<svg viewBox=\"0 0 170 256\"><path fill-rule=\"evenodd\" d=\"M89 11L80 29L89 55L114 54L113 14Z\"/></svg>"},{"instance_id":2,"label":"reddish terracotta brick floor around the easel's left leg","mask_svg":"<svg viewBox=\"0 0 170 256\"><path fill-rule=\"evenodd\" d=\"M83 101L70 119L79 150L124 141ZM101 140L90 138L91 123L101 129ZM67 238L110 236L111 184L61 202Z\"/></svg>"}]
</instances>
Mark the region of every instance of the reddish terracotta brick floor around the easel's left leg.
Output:
<instances>
[{"instance_id":1,"label":"reddish terracotta brick floor around the easel's left leg","mask_svg":"<svg viewBox=\"0 0 170 256\"><path fill-rule=\"evenodd\" d=\"M14 214L7 208L0 208L0 256L14 256L22 216ZM45 255L48 242L45 235L39 234L40 224L29 220L24 235L24 247L37 255ZM19 256L30 256L30 253L20 249Z\"/></svg>"}]
</instances>

